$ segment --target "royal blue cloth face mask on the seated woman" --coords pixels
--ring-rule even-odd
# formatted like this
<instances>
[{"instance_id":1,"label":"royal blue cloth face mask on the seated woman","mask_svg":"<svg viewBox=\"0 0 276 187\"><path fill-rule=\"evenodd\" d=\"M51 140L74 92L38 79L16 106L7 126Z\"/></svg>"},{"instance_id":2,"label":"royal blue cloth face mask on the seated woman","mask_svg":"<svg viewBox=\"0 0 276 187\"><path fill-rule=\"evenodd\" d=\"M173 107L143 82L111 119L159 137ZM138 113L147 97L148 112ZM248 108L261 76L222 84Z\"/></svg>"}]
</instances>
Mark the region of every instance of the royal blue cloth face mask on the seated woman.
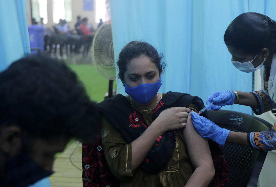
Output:
<instances>
[{"instance_id":1,"label":"royal blue cloth face mask on the seated woman","mask_svg":"<svg viewBox=\"0 0 276 187\"><path fill-rule=\"evenodd\" d=\"M124 82L125 92L139 103L149 103L157 94L161 83L161 74L159 74L159 80L155 83L140 84L139 86L129 88Z\"/></svg>"}]
</instances>

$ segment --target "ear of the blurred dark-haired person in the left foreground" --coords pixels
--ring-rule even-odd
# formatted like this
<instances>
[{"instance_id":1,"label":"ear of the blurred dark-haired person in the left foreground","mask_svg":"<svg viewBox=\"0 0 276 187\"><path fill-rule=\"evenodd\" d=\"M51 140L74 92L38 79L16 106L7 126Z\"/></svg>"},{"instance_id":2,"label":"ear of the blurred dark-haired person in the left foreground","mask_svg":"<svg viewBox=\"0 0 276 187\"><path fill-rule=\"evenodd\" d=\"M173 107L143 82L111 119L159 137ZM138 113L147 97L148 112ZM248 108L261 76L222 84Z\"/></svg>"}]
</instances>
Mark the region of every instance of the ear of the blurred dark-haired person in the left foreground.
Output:
<instances>
[{"instance_id":1,"label":"ear of the blurred dark-haired person in the left foreground","mask_svg":"<svg viewBox=\"0 0 276 187\"><path fill-rule=\"evenodd\" d=\"M0 131L1 152L12 157L17 155L22 145L21 130L18 126L5 126Z\"/></svg>"}]
</instances>

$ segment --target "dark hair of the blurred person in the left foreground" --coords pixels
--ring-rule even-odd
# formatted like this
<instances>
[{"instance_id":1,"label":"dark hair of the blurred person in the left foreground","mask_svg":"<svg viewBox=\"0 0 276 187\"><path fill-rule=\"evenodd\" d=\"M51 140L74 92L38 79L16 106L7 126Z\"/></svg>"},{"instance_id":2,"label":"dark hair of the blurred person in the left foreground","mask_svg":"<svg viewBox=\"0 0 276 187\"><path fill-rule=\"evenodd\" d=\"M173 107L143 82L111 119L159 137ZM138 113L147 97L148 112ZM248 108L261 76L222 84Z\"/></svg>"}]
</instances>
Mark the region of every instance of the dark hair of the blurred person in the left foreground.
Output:
<instances>
[{"instance_id":1,"label":"dark hair of the blurred person in the left foreground","mask_svg":"<svg viewBox=\"0 0 276 187\"><path fill-rule=\"evenodd\" d=\"M33 137L95 135L99 115L83 84L65 63L34 55L0 73L0 126L17 125Z\"/></svg>"}]
</instances>

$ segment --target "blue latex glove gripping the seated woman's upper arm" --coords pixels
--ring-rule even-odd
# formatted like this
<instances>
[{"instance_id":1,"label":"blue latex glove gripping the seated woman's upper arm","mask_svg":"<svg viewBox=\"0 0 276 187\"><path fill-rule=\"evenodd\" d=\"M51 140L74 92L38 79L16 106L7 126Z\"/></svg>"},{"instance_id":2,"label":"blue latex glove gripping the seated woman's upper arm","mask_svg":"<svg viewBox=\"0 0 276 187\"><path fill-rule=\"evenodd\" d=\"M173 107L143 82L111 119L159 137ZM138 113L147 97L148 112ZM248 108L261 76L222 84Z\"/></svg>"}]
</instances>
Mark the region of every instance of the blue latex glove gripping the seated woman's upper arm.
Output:
<instances>
[{"instance_id":1,"label":"blue latex glove gripping the seated woman's upper arm","mask_svg":"<svg viewBox=\"0 0 276 187\"><path fill-rule=\"evenodd\" d=\"M200 136L202 136L203 138L211 139L214 142L220 144L221 146L225 144L225 140L230 130L221 128L209 119L197 115L194 112L191 112L191 115L193 126L195 127L196 131L200 134Z\"/></svg>"}]
</instances>

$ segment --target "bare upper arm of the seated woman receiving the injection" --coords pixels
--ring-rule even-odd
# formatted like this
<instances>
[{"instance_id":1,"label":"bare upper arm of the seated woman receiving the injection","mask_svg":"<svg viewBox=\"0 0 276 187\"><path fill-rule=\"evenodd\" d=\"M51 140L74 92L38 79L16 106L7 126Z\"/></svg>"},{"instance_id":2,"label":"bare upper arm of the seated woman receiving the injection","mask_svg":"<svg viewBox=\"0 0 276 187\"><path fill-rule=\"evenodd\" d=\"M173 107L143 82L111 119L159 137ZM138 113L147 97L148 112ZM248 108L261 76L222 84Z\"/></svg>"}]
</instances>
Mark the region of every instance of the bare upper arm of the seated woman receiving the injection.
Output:
<instances>
[{"instance_id":1,"label":"bare upper arm of the seated woman receiving the injection","mask_svg":"<svg viewBox=\"0 0 276 187\"><path fill-rule=\"evenodd\" d=\"M183 137L194 169L202 165L213 167L208 141L194 129L191 114L188 115L186 127L183 129Z\"/></svg>"}]
</instances>

